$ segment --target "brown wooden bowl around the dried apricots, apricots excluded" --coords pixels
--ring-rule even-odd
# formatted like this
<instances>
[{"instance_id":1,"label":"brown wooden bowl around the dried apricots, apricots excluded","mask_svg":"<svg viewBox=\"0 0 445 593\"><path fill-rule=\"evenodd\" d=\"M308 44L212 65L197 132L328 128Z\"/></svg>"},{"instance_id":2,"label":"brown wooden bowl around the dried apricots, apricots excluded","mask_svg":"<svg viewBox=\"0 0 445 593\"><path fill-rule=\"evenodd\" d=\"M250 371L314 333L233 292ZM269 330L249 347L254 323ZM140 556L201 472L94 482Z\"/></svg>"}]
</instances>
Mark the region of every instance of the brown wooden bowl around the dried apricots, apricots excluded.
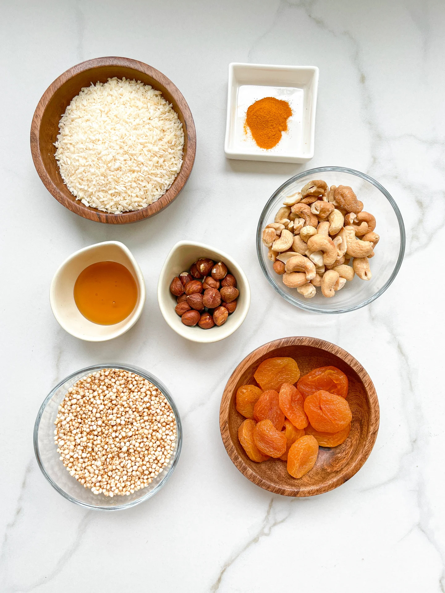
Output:
<instances>
[{"instance_id":1,"label":"brown wooden bowl around the dried apricots, apricots excluded","mask_svg":"<svg viewBox=\"0 0 445 593\"><path fill-rule=\"evenodd\" d=\"M351 432L338 447L320 447L313 469L300 479L287 473L286 462L269 459L255 463L247 457L238 439L245 420L236 410L236 392L241 385L257 385L253 374L260 362L273 356L297 361L301 377L319 366L337 366L349 381ZM333 490L354 476L367 460L379 430L379 401L369 375L346 350L313 337L286 337L253 350L232 373L225 385L220 407L222 441L236 467L250 482L285 496L313 496Z\"/></svg>"}]
</instances>

